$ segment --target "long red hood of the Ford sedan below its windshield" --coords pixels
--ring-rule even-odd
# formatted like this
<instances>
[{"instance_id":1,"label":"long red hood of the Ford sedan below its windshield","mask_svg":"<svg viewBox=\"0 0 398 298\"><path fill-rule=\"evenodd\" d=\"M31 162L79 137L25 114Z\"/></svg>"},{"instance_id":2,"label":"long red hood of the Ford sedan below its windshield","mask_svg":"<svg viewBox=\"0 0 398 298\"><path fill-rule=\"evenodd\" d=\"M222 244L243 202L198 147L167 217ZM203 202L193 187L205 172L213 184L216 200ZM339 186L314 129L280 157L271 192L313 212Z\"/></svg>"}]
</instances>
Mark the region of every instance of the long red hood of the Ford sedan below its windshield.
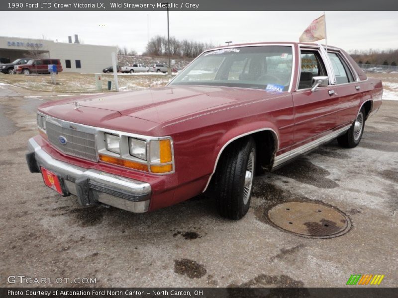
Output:
<instances>
[{"instance_id":1,"label":"long red hood of the Ford sedan below its windshield","mask_svg":"<svg viewBox=\"0 0 398 298\"><path fill-rule=\"evenodd\" d=\"M89 96L71 100L69 104L77 102L82 107L105 109L125 116L165 123L228 108L245 101L279 95L276 92L243 88L167 86Z\"/></svg>"}]
</instances>

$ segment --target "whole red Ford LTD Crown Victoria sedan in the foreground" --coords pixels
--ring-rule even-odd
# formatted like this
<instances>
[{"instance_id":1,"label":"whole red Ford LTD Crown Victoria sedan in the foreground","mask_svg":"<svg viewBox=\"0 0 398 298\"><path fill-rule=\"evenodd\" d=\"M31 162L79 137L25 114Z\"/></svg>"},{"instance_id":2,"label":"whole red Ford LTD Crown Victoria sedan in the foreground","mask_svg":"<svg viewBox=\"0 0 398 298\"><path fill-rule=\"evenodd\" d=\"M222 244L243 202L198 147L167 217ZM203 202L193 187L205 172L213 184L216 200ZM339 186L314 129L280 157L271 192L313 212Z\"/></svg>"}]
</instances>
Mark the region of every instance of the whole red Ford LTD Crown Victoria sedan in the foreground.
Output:
<instances>
[{"instance_id":1,"label":"whole red Ford LTD Crown Victoria sedan in the foreground","mask_svg":"<svg viewBox=\"0 0 398 298\"><path fill-rule=\"evenodd\" d=\"M334 138L357 146L382 92L335 47L216 48L166 87L44 103L27 163L83 206L147 212L206 191L238 220L255 174Z\"/></svg>"}]
</instances>

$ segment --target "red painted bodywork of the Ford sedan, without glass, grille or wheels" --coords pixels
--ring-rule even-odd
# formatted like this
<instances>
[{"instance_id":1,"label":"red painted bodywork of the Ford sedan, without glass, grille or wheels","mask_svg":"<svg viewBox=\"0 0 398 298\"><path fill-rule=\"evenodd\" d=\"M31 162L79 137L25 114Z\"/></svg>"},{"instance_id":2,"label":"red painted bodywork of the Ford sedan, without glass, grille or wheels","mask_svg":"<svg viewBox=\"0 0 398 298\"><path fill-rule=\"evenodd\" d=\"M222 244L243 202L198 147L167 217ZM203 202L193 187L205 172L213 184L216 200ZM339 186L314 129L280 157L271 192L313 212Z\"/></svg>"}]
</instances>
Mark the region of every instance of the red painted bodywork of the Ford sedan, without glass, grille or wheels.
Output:
<instances>
[{"instance_id":1,"label":"red painted bodywork of the Ford sedan, without glass, grille or wheels","mask_svg":"<svg viewBox=\"0 0 398 298\"><path fill-rule=\"evenodd\" d=\"M296 62L300 46L316 47L314 44L278 44L293 45ZM236 137L270 129L276 134L277 157L350 125L366 101L371 102L369 114L377 111L381 105L381 81L367 78L344 51L329 49L340 51L361 80L330 85L317 92L297 91L299 64L295 63L291 92L172 85L110 95L77 96L39 107L46 115L75 123L146 136L171 136L175 156L175 172L171 174L156 175L84 160L61 153L41 136L35 140L56 159L148 182L152 188L149 211L170 206L203 192L221 150ZM332 89L335 93L329 95ZM75 109L75 101L79 109Z\"/></svg>"}]
</instances>

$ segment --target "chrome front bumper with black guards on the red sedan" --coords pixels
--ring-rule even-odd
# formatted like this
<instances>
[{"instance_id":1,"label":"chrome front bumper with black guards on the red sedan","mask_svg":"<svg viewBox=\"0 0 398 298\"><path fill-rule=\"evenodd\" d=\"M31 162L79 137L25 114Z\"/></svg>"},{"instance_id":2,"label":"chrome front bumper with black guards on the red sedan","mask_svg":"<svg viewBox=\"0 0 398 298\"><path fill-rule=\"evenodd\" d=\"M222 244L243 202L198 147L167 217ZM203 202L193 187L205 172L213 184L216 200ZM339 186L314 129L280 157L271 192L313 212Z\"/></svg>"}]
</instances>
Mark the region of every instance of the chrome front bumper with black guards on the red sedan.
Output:
<instances>
[{"instance_id":1,"label":"chrome front bumper with black guards on the red sedan","mask_svg":"<svg viewBox=\"0 0 398 298\"><path fill-rule=\"evenodd\" d=\"M60 179L64 196L76 195L82 206L100 202L134 213L147 212L149 209L149 183L54 159L33 138L28 142L26 160L32 173L40 172L40 167L55 173Z\"/></svg>"}]
</instances>

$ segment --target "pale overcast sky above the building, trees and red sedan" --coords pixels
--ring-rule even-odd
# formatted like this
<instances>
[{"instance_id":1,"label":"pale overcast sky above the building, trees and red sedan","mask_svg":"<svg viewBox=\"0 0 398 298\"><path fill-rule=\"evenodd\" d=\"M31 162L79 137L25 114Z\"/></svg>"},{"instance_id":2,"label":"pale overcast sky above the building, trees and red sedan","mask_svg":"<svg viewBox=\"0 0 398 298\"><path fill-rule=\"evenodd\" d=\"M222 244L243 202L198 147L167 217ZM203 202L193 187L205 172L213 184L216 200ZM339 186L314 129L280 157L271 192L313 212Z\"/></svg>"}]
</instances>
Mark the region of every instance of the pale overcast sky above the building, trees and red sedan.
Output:
<instances>
[{"instance_id":1,"label":"pale overcast sky above the building, trees and red sedan","mask_svg":"<svg viewBox=\"0 0 398 298\"><path fill-rule=\"evenodd\" d=\"M259 41L298 41L323 11L170 11L170 35L215 46ZM34 17L33 17L34 16ZM1 35L58 39L79 34L86 44L145 51L148 36L167 36L166 11L7 11ZM327 43L353 49L398 48L398 11L326 11Z\"/></svg>"}]
</instances>

